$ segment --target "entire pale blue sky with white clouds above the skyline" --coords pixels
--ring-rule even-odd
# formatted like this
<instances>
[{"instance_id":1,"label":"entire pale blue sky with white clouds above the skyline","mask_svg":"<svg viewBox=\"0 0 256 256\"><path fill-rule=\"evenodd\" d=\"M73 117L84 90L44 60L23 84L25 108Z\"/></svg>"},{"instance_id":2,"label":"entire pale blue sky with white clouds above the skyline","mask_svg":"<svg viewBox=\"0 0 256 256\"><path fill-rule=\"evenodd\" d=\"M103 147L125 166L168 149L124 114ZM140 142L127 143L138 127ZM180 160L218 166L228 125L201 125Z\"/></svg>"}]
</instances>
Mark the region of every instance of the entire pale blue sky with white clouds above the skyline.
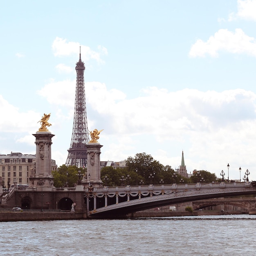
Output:
<instances>
[{"instance_id":1,"label":"entire pale blue sky with white clouds above the skyline","mask_svg":"<svg viewBox=\"0 0 256 256\"><path fill-rule=\"evenodd\" d=\"M256 0L5 1L0 153L35 154L52 113L52 158L70 147L75 65L102 161L147 153L188 173L256 180Z\"/></svg>"}]
</instances>

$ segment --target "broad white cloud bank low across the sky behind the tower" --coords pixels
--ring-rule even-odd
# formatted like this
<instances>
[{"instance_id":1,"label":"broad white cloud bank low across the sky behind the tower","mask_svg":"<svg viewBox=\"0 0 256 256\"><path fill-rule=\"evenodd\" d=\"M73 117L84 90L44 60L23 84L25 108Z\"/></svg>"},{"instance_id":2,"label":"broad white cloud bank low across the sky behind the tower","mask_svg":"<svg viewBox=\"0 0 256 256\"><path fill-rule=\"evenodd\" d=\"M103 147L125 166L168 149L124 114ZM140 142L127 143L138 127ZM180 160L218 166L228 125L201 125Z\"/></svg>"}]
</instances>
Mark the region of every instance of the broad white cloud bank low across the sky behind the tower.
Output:
<instances>
[{"instance_id":1,"label":"broad white cloud bank low across the sky behind the tower","mask_svg":"<svg viewBox=\"0 0 256 256\"><path fill-rule=\"evenodd\" d=\"M52 81L40 90L49 105L57 108L52 111L50 130L56 134L52 157L58 164L65 163L71 139L74 84L75 81ZM237 168L237 176L230 176L234 179L239 178L240 166L249 170L256 166L256 94L253 92L243 89L169 92L153 87L141 91L140 97L126 99L123 92L92 82L85 83L85 94L93 120L89 130L104 129L99 141L103 145L102 160L120 161L146 152L162 164L175 168L180 165L183 149L188 171L204 169L218 175L229 163ZM8 109L3 112L1 131L4 128L5 133L15 134L15 143L32 147L34 137L31 134L38 130L41 116L33 112L20 113L0 99L1 108ZM31 119L30 114L36 117ZM8 127L4 127L5 124ZM17 134L17 127L29 130L30 137Z\"/></svg>"}]
</instances>

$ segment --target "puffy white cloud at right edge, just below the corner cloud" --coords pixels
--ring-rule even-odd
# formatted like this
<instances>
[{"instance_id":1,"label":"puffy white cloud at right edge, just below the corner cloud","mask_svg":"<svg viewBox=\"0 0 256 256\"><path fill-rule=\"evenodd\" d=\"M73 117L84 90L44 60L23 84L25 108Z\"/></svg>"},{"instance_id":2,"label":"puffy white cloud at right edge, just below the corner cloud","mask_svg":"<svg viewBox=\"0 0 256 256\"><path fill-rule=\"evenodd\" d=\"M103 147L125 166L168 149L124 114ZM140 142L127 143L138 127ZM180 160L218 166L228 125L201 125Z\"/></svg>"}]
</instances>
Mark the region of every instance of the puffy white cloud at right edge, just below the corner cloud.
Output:
<instances>
[{"instance_id":1,"label":"puffy white cloud at right edge, just below the corner cloud","mask_svg":"<svg viewBox=\"0 0 256 256\"><path fill-rule=\"evenodd\" d=\"M198 39L192 45L189 56L194 58L209 54L211 57L218 57L220 51L256 57L256 40L247 36L242 29L236 29L235 33L227 29L220 29L207 42Z\"/></svg>"}]
</instances>

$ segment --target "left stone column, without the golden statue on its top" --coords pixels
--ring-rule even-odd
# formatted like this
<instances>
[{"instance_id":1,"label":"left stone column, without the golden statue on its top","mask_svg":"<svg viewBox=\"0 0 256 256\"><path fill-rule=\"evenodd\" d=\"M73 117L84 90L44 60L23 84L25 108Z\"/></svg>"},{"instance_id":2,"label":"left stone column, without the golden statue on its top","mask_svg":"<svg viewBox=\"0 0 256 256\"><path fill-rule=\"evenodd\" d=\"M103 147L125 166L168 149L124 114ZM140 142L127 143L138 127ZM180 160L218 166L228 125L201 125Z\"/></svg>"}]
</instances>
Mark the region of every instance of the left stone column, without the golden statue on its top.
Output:
<instances>
[{"instance_id":1,"label":"left stone column, without the golden statue on its top","mask_svg":"<svg viewBox=\"0 0 256 256\"><path fill-rule=\"evenodd\" d=\"M42 191L52 191L52 137L49 131L38 131L36 137L36 166L29 177L29 187L38 187Z\"/></svg>"}]
</instances>

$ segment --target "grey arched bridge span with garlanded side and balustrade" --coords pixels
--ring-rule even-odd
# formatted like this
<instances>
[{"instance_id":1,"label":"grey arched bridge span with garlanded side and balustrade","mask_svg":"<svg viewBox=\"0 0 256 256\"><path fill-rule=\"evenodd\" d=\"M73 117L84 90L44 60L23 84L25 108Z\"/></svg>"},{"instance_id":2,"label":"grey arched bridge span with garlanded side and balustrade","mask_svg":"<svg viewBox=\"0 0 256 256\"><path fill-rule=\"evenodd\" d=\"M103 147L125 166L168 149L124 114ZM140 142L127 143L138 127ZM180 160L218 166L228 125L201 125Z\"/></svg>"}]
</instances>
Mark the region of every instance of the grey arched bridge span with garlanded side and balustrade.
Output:
<instances>
[{"instance_id":1,"label":"grey arched bridge span with garlanded side and balustrade","mask_svg":"<svg viewBox=\"0 0 256 256\"><path fill-rule=\"evenodd\" d=\"M137 186L137 190L135 187L128 186L123 191L115 192L104 191L106 189L104 188L103 191L86 193L87 216L89 218L121 218L128 213L154 207L256 193L256 187L251 186L249 182L150 185Z\"/></svg>"}]
</instances>

